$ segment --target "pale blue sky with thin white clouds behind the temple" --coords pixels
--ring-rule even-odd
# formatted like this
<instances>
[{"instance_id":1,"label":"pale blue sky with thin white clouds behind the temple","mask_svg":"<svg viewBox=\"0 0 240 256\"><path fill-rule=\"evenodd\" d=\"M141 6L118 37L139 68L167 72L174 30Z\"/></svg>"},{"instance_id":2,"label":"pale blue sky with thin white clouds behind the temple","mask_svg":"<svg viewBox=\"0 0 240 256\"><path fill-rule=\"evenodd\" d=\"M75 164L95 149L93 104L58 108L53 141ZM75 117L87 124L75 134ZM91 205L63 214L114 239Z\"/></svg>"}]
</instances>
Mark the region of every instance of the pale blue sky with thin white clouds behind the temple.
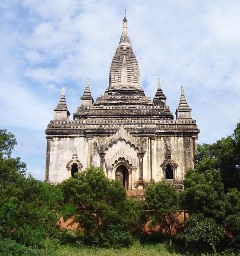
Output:
<instances>
[{"instance_id":1,"label":"pale blue sky with thin white clouds behind the temple","mask_svg":"<svg viewBox=\"0 0 240 256\"><path fill-rule=\"evenodd\" d=\"M147 96L160 77L175 114L184 85L199 143L239 122L239 0L0 0L0 128L16 135L13 157L36 179L61 88L72 120L87 77L94 99L108 87L125 9Z\"/></svg>"}]
</instances>

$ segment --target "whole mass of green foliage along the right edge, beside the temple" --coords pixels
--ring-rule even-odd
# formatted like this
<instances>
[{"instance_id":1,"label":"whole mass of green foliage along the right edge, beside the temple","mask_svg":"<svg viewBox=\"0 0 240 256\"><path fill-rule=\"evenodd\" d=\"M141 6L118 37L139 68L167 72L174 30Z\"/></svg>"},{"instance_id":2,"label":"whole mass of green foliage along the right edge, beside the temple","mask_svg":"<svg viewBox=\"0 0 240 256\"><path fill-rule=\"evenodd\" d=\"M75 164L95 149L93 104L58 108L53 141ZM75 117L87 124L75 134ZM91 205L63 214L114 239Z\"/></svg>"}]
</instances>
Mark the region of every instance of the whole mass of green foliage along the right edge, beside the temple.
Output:
<instances>
[{"instance_id":1,"label":"whole mass of green foliage along the right edge, beside the temple","mask_svg":"<svg viewBox=\"0 0 240 256\"><path fill-rule=\"evenodd\" d=\"M240 242L240 123L233 135L198 147L198 161L185 175L184 204L190 214L185 237L214 248L225 229ZM205 230L206 234L203 232ZM203 233L202 233L203 232Z\"/></svg>"}]
</instances>

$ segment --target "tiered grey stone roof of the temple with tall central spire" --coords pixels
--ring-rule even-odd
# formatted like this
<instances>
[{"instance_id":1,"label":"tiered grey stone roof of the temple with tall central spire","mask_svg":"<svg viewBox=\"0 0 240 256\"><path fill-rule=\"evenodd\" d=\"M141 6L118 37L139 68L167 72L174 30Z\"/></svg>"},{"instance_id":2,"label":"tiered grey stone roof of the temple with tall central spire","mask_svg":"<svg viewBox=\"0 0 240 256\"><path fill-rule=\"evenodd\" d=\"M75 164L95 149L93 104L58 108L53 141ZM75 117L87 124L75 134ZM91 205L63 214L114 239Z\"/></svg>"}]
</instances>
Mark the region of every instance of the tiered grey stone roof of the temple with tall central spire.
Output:
<instances>
[{"instance_id":1,"label":"tiered grey stone roof of the temple with tall central spire","mask_svg":"<svg viewBox=\"0 0 240 256\"><path fill-rule=\"evenodd\" d=\"M73 114L73 124L74 121L78 121L81 125L77 125L77 122L76 125L70 124L70 122L62 123L62 125L66 126L65 129L71 134L76 132L81 134L112 134L123 123L131 124L129 131L131 130L133 134L159 134L164 130L166 131L167 128L169 128L169 134L173 132L176 134L178 131L182 133L186 130L183 124L187 121L189 133L198 134L199 130L191 117L191 108L187 105L183 88L180 104L176 111L177 121L179 121L178 129L173 129L173 126L169 125L168 127L164 126L162 131L160 130L163 122L173 123L173 114L169 107L166 106L166 100L167 97L160 86L160 79L158 79L158 87L153 101L140 88L139 65L130 45L125 15L120 43L110 67L108 88L94 102L90 91L89 79L87 79L86 89L81 96L81 105L77 108L76 113ZM60 106L64 107L65 113L69 116L65 94L60 100ZM63 110L60 106L55 111L58 108ZM48 125L47 133L53 134L56 130L61 133L59 127L54 126L54 123L52 122ZM91 126L91 123L95 125ZM103 123L108 124L106 129L103 128ZM90 130L94 131L90 132Z\"/></svg>"}]
</instances>

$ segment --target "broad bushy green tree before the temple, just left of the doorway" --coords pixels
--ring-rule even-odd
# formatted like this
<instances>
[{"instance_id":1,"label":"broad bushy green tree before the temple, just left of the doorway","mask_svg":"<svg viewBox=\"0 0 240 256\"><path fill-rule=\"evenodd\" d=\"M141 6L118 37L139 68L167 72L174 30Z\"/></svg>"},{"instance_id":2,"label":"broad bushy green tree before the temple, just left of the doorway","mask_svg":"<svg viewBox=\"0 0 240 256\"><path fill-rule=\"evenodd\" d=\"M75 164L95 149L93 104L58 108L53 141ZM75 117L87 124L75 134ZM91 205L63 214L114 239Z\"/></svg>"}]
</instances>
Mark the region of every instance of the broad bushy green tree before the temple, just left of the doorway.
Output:
<instances>
[{"instance_id":1,"label":"broad bushy green tree before the temple, just left of the doorway","mask_svg":"<svg viewBox=\"0 0 240 256\"><path fill-rule=\"evenodd\" d=\"M127 198L122 184L107 179L101 168L91 166L58 187L63 191L64 202L75 205L73 222L78 223L88 238L99 240L99 245L111 245L109 234L129 237L136 228L139 204Z\"/></svg>"}]
</instances>

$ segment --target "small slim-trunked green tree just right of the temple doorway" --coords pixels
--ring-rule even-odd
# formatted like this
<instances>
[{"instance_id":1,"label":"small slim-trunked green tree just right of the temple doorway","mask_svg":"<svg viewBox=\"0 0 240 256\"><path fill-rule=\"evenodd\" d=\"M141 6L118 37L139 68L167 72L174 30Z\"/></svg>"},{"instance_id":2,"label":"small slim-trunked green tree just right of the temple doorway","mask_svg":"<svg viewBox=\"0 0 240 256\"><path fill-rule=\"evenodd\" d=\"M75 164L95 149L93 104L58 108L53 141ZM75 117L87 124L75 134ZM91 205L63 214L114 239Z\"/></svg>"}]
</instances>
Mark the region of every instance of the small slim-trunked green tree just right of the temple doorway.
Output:
<instances>
[{"instance_id":1,"label":"small slim-trunked green tree just right of the temple doorway","mask_svg":"<svg viewBox=\"0 0 240 256\"><path fill-rule=\"evenodd\" d=\"M162 181L147 186L145 198L150 226L159 225L161 229L166 229L171 245L173 226L181 214L180 191L174 185Z\"/></svg>"}]
</instances>

